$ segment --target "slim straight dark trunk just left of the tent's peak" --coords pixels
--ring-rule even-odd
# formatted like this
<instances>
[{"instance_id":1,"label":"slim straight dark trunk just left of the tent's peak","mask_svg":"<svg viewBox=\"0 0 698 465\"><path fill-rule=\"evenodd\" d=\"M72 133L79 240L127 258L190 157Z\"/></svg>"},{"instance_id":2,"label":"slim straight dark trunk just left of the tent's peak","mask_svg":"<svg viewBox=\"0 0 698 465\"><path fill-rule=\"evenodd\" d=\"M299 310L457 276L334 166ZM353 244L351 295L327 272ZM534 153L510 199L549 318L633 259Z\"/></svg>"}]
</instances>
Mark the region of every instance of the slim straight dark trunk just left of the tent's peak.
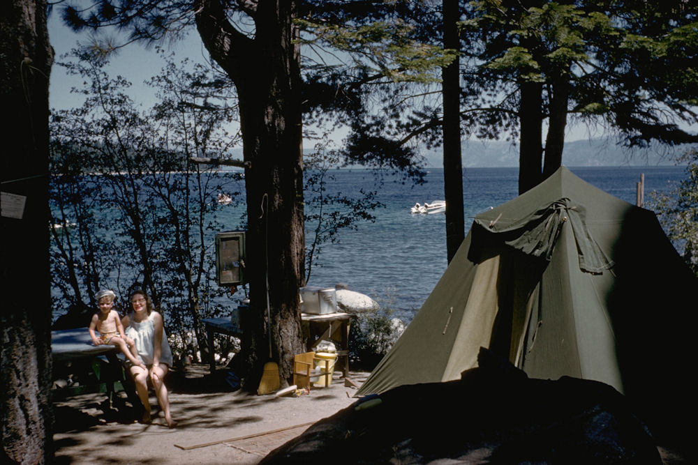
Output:
<instances>
[{"instance_id":1,"label":"slim straight dark trunk just left of the tent's peak","mask_svg":"<svg viewBox=\"0 0 698 465\"><path fill-rule=\"evenodd\" d=\"M459 49L458 1L443 0L444 47ZM442 70L443 76L443 185L446 201L446 255L448 262L466 236L463 220L463 162L461 161L461 86L459 60Z\"/></svg>"}]
</instances>

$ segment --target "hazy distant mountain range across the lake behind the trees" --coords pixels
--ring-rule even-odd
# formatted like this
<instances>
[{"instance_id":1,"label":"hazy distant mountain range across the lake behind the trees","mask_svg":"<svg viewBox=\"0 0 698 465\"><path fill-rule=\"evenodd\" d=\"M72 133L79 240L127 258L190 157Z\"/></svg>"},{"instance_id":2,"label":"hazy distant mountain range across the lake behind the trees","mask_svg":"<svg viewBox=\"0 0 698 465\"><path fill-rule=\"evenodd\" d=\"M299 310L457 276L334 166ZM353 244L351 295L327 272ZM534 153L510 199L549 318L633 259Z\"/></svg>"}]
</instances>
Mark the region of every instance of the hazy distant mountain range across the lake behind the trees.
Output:
<instances>
[{"instance_id":1,"label":"hazy distant mountain range across the lake behind the trees","mask_svg":"<svg viewBox=\"0 0 698 465\"><path fill-rule=\"evenodd\" d=\"M614 167L675 165L674 154L688 146L658 148L623 148L606 139L579 140L565 143L563 165L567 167ZM426 167L443 167L443 152L423 151ZM465 141L461 146L463 167L518 167L519 147L509 142Z\"/></svg>"}]
</instances>

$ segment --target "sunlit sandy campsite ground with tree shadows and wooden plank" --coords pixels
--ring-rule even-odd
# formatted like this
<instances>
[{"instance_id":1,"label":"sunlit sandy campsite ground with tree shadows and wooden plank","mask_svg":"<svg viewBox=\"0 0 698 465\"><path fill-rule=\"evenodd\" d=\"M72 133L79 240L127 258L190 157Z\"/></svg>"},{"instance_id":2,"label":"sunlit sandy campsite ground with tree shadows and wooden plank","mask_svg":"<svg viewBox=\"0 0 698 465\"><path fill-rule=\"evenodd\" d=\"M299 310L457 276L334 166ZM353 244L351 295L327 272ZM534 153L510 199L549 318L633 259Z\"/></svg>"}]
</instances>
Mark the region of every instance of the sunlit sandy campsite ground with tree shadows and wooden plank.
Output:
<instances>
[{"instance_id":1,"label":"sunlit sandy campsite ground with tree shadows and wooden plank","mask_svg":"<svg viewBox=\"0 0 698 465\"><path fill-rule=\"evenodd\" d=\"M360 386L366 376L350 372L349 379ZM345 386L337 373L331 386L300 397L230 392L224 377L225 370L211 375L205 365L168 376L174 429L165 426L152 392L149 425L133 420L124 392L111 405L105 394L54 402L54 463L256 464L313 422L356 401L356 388Z\"/></svg>"}]
</instances>

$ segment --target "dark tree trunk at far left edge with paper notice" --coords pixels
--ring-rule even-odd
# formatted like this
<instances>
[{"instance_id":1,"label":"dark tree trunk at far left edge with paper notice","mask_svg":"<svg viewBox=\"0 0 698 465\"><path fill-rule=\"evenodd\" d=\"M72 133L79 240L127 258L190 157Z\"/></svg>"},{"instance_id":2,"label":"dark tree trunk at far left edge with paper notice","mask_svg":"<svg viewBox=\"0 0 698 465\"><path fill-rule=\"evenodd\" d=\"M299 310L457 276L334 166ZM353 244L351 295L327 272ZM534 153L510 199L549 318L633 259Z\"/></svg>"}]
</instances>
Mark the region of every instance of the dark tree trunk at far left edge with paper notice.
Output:
<instances>
[{"instance_id":1,"label":"dark tree trunk at far left edge with paper notice","mask_svg":"<svg viewBox=\"0 0 698 465\"><path fill-rule=\"evenodd\" d=\"M46 2L0 7L3 463L52 462ZM10 196L24 201L10 208ZM11 213L10 213L11 211Z\"/></svg>"}]
</instances>

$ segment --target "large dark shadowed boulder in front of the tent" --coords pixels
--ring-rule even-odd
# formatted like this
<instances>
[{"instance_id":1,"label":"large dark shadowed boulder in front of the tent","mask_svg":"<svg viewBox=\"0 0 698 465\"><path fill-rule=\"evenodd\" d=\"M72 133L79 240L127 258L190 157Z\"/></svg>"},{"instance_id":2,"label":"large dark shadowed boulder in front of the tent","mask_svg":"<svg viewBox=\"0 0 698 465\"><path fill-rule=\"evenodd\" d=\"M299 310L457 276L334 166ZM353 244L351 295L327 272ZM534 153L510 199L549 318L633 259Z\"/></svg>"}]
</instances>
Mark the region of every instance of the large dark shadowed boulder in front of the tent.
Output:
<instances>
[{"instance_id":1,"label":"large dark shadowed boulder in front of the tent","mask_svg":"<svg viewBox=\"0 0 698 465\"><path fill-rule=\"evenodd\" d=\"M611 386L529 379L487 352L459 381L369 397L260 463L662 463L648 430Z\"/></svg>"}]
</instances>

